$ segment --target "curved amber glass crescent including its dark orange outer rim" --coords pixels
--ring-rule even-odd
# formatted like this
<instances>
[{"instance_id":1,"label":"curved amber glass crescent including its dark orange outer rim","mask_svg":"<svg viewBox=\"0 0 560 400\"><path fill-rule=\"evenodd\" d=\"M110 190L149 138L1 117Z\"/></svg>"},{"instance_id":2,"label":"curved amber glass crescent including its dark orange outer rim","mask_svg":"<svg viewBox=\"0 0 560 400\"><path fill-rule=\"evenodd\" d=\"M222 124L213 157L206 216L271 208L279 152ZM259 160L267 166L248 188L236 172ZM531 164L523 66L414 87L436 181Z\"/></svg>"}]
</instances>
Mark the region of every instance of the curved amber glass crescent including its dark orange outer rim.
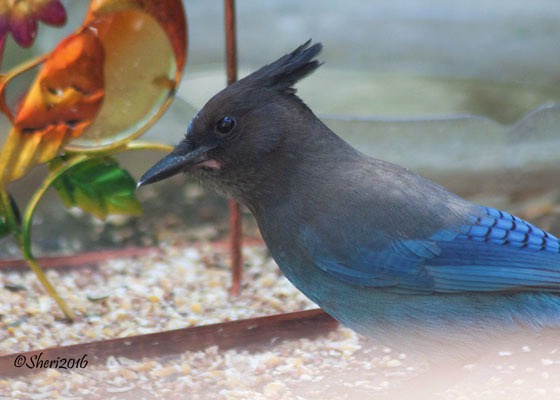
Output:
<instances>
[{"instance_id":1,"label":"curved amber glass crescent including its dark orange outer rim","mask_svg":"<svg viewBox=\"0 0 560 400\"><path fill-rule=\"evenodd\" d=\"M105 100L69 151L113 148L142 134L169 104L185 62L180 0L94 0L85 22L105 47Z\"/></svg>"}]
</instances>

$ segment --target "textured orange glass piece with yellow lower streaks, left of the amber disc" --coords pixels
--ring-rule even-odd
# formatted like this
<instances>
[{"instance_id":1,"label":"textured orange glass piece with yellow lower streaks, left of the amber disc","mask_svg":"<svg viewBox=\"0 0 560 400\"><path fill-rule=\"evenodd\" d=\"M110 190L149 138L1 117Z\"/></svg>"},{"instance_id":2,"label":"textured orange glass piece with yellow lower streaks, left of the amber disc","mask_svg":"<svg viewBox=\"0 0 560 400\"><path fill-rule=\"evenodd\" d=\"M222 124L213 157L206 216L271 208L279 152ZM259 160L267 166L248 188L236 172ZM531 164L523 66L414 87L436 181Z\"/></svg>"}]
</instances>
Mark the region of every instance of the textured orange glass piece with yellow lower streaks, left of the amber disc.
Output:
<instances>
[{"instance_id":1,"label":"textured orange glass piece with yellow lower streaks, left of the amber disc","mask_svg":"<svg viewBox=\"0 0 560 400\"><path fill-rule=\"evenodd\" d=\"M88 28L64 39L47 57L2 147L0 187L55 157L92 123L104 97L104 61L103 45Z\"/></svg>"}]
</instances>

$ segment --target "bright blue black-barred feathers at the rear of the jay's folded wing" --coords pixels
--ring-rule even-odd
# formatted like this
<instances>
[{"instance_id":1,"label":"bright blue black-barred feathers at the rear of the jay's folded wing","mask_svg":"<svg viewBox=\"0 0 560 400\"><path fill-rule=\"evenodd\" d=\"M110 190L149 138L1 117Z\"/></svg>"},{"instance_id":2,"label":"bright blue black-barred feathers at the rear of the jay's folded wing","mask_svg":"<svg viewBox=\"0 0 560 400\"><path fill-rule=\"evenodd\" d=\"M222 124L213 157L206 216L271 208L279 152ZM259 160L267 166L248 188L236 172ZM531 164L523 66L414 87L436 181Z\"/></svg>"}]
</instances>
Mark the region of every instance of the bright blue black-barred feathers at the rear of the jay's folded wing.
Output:
<instances>
[{"instance_id":1,"label":"bright blue black-barred feathers at the rear of the jay's folded wing","mask_svg":"<svg viewBox=\"0 0 560 400\"><path fill-rule=\"evenodd\" d=\"M483 216L451 241L441 256L425 260L436 291L560 291L558 239L504 211Z\"/></svg>"}]
</instances>

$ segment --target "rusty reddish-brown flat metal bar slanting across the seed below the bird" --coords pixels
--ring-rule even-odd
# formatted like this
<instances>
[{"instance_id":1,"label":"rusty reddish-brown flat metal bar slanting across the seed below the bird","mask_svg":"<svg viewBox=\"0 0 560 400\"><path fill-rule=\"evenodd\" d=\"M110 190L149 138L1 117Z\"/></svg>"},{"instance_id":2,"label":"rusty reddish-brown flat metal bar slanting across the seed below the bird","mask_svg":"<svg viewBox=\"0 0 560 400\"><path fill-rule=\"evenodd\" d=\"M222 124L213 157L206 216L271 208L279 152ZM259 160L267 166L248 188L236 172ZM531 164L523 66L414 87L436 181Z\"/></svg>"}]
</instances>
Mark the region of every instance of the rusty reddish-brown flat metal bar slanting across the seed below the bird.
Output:
<instances>
[{"instance_id":1,"label":"rusty reddish-brown flat metal bar slanting across the seed below the bird","mask_svg":"<svg viewBox=\"0 0 560 400\"><path fill-rule=\"evenodd\" d=\"M83 356L85 365L91 368L105 365L111 357L131 360L161 359L188 351L201 351L210 346L218 346L221 350L268 351L280 341L313 339L326 335L337 327L338 323L321 309L242 319L1 355L0 376L2 379L18 378L37 373L36 369L25 368L22 364L14 366L18 359L25 363L26 360L31 362L37 357L55 360ZM16 368L18 366L24 368Z\"/></svg>"}]
</instances>

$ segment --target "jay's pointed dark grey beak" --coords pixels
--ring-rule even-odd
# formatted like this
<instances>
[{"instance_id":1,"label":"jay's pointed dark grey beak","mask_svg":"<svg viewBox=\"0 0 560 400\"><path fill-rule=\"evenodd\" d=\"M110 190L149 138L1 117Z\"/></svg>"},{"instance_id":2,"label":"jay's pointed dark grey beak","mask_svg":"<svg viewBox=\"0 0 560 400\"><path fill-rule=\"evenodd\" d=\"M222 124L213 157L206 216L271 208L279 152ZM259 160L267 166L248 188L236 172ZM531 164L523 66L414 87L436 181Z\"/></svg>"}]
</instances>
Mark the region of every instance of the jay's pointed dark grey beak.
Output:
<instances>
[{"instance_id":1,"label":"jay's pointed dark grey beak","mask_svg":"<svg viewBox=\"0 0 560 400\"><path fill-rule=\"evenodd\" d=\"M158 182L169 178L182 171L208 161L206 152L215 146L198 146L193 148L189 142L181 143L171 153L159 160L152 168L147 170L138 181L136 187Z\"/></svg>"}]
</instances>

